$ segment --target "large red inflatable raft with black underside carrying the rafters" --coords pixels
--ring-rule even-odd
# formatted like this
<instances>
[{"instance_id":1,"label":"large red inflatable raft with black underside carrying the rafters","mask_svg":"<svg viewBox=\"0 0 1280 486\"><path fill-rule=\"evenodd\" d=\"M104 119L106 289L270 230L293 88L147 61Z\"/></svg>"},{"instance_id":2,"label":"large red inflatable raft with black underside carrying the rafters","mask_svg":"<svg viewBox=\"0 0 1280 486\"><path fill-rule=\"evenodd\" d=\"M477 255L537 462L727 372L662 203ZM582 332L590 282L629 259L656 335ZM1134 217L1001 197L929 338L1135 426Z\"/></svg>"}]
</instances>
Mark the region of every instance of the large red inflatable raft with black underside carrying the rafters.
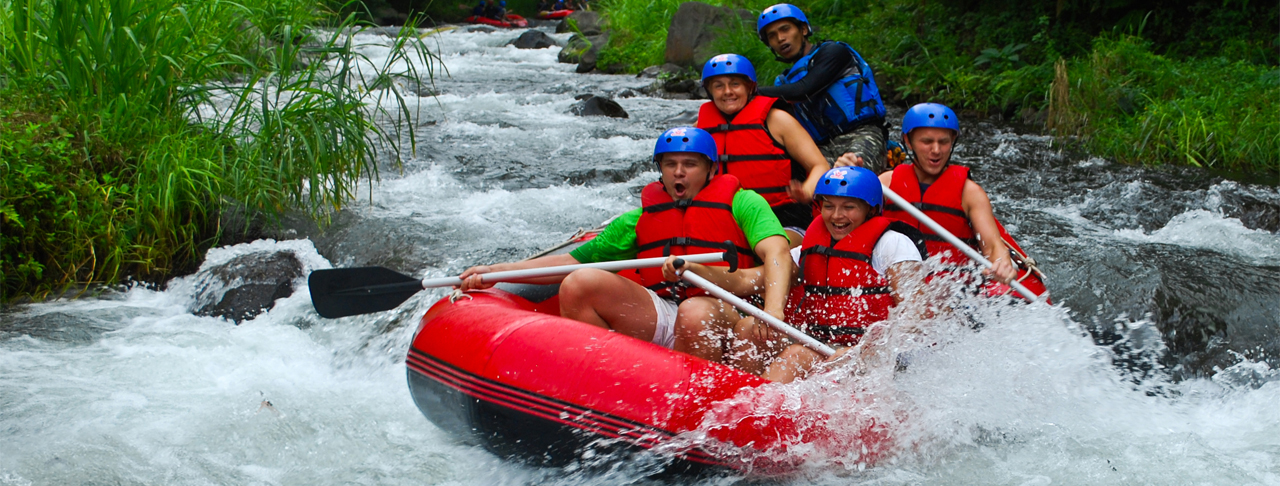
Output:
<instances>
[{"instance_id":1,"label":"large red inflatable raft with black underside carrying the rafters","mask_svg":"<svg viewBox=\"0 0 1280 486\"><path fill-rule=\"evenodd\" d=\"M406 358L426 418L494 454L564 467L663 446L672 473L780 474L803 462L785 454L795 445L861 450L867 464L890 446L888 427L873 419L836 434L822 411L730 400L765 381L559 317L556 285L502 286L511 292L436 302ZM676 439L695 430L719 443Z\"/></svg>"}]
</instances>

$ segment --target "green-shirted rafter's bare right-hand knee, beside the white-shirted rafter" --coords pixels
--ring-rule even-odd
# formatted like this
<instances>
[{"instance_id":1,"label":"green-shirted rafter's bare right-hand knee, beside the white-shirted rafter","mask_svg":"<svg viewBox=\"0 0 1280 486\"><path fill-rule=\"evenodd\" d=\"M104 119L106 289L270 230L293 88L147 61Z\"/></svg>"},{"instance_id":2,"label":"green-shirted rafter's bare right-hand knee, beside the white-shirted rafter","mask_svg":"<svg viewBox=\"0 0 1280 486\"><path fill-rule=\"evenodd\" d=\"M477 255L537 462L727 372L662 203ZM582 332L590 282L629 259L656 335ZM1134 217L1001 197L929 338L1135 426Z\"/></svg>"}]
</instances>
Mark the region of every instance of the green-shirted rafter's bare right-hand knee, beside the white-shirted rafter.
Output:
<instances>
[{"instance_id":1,"label":"green-shirted rafter's bare right-hand knee, beside the white-shirted rafter","mask_svg":"<svg viewBox=\"0 0 1280 486\"><path fill-rule=\"evenodd\" d=\"M741 318L733 306L710 297L694 297L680 303L676 315L676 347L714 363L724 358L724 343L733 322Z\"/></svg>"}]
</instances>

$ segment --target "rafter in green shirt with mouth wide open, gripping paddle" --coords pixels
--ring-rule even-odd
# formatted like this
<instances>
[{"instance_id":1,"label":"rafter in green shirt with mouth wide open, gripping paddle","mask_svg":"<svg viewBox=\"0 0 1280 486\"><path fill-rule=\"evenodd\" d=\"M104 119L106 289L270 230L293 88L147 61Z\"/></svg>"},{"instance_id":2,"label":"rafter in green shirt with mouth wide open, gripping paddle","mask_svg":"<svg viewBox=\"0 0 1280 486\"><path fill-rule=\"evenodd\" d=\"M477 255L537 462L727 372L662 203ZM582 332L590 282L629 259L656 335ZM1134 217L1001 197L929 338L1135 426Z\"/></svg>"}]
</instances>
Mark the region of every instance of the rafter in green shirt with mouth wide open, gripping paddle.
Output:
<instances>
[{"instance_id":1,"label":"rafter in green shirt with mouth wide open, gripping paddle","mask_svg":"<svg viewBox=\"0 0 1280 486\"><path fill-rule=\"evenodd\" d=\"M644 188L643 207L623 212L570 253L467 269L461 275L461 289L492 286L479 279L492 271L719 252L730 242L741 247L740 267L759 265L755 271L762 274L764 310L781 317L791 275L786 235L760 194L742 191L732 175L716 175L716 155L709 133L687 127L667 130L654 147L662 176ZM673 285L657 269L625 274L584 269L529 283L561 283L563 317L700 358L721 359L722 349L701 345L696 334L699 329L728 334L740 318L732 306L699 289Z\"/></svg>"}]
</instances>

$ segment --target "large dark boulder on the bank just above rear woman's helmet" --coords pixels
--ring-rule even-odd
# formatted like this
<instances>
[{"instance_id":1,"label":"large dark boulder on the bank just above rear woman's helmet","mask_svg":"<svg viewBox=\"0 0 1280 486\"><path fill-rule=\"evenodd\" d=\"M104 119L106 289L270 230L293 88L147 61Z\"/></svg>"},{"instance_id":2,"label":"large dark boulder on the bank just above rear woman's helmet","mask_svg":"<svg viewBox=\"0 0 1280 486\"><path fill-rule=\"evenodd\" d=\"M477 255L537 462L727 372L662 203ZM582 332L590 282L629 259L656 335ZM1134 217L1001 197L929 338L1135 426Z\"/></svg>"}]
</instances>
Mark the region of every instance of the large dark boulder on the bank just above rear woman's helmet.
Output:
<instances>
[{"instance_id":1,"label":"large dark boulder on the bank just above rear woman's helmet","mask_svg":"<svg viewBox=\"0 0 1280 486\"><path fill-rule=\"evenodd\" d=\"M667 63L701 68L716 51L714 42L724 32L749 26L754 29L755 14L745 9L712 6L699 1L680 4L667 28Z\"/></svg>"}]
</instances>

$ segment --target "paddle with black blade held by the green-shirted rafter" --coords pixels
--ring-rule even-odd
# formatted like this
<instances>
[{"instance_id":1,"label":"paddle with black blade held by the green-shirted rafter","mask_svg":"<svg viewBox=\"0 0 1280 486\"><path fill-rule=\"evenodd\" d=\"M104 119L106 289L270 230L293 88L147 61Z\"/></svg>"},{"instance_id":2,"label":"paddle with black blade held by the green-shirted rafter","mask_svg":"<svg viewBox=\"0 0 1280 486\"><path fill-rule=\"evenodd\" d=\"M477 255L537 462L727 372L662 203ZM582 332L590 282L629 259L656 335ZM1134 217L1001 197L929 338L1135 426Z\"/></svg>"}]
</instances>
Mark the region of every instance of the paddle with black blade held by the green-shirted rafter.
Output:
<instances>
[{"instance_id":1,"label":"paddle with black blade held by the green-shirted rafter","mask_svg":"<svg viewBox=\"0 0 1280 486\"><path fill-rule=\"evenodd\" d=\"M698 263L712 263L732 258L728 261L737 263L736 255L730 253L699 253L685 258ZM655 257L495 271L481 274L480 279L486 284L494 284L541 276L568 275L579 269L600 269L607 271L652 269L662 266L666 260L664 257ZM311 289L311 304L315 306L320 317L326 318L388 311L408 301L419 290L461 284L462 279L456 276L419 280L380 266L316 270L307 276L307 286Z\"/></svg>"}]
</instances>

